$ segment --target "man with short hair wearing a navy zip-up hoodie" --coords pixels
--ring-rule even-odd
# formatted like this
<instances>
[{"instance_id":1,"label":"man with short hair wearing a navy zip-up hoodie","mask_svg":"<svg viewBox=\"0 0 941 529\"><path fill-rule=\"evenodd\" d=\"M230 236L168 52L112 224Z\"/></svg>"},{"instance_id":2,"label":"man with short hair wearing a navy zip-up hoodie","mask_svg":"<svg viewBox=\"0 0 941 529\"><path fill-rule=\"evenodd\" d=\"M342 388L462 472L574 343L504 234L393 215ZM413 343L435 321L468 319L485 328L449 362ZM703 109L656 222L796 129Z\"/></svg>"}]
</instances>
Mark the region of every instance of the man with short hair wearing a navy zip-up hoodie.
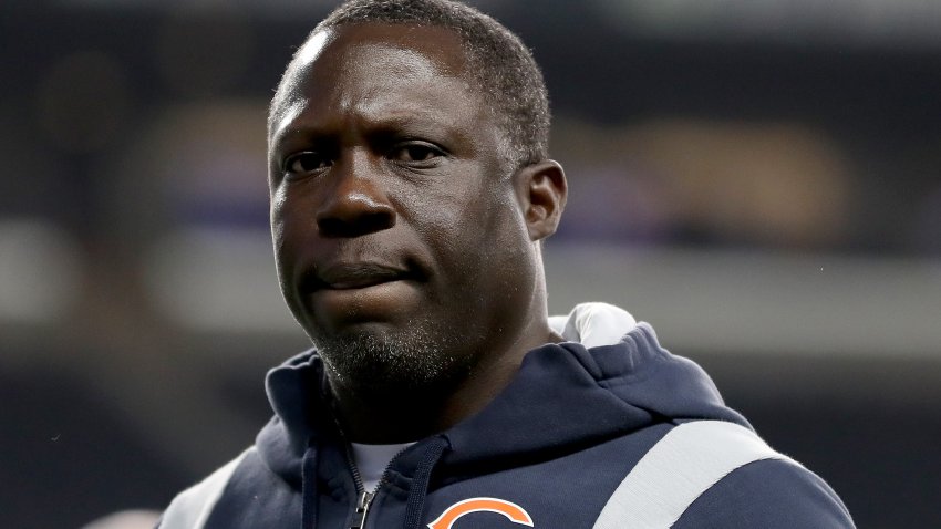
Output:
<instances>
[{"instance_id":1,"label":"man with short hair wearing a navy zip-up hoodie","mask_svg":"<svg viewBox=\"0 0 941 529\"><path fill-rule=\"evenodd\" d=\"M547 317L566 179L541 74L449 0L354 0L271 104L281 289L314 349L161 527L852 527L620 309Z\"/></svg>"}]
</instances>

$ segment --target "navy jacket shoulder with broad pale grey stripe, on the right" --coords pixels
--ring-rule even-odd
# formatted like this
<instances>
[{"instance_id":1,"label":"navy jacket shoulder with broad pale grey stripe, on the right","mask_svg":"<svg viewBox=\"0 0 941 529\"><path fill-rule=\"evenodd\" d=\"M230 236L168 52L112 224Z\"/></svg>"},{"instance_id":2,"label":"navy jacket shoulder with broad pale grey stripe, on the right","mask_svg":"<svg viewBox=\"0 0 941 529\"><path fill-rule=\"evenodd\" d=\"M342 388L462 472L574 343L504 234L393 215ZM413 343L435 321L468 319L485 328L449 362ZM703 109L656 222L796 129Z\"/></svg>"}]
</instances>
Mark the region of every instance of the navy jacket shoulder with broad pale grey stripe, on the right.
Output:
<instances>
[{"instance_id":1,"label":"navy jacket shoulder with broad pale grey stripe, on the right","mask_svg":"<svg viewBox=\"0 0 941 529\"><path fill-rule=\"evenodd\" d=\"M726 518L742 519L743 508L753 511L753 521L763 521L730 525ZM784 521L795 521L785 515L799 510L802 522ZM813 519L831 523L806 525ZM721 421L681 424L638 461L594 527L613 529L624 520L651 529L702 527L703 520L722 527L852 527L846 507L819 477L751 429ZM764 525L767 520L784 525Z\"/></svg>"}]
</instances>

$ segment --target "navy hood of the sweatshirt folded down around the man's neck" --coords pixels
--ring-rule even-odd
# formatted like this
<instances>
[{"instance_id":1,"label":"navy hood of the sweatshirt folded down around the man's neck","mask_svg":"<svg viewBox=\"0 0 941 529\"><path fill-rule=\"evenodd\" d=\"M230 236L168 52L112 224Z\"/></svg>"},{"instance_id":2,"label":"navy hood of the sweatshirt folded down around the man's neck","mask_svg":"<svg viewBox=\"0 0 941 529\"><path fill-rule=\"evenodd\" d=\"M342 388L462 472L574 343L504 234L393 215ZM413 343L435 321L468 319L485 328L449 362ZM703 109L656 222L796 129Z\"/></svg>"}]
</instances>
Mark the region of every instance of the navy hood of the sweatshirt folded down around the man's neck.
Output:
<instances>
[{"instance_id":1,"label":"navy hood of the sweatshirt folded down around the man's neck","mask_svg":"<svg viewBox=\"0 0 941 529\"><path fill-rule=\"evenodd\" d=\"M577 315L585 319L573 312L569 321ZM530 351L489 405L436 436L449 445L441 464L466 476L561 456L654 424L718 419L751 427L724 405L701 367L660 346L650 325L632 318L612 324L627 333L610 344L563 342ZM570 331L565 336L577 339ZM322 362L314 351L296 356L269 372L267 390L276 415L258 435L260 456L300 486L311 439L339 439Z\"/></svg>"}]
</instances>

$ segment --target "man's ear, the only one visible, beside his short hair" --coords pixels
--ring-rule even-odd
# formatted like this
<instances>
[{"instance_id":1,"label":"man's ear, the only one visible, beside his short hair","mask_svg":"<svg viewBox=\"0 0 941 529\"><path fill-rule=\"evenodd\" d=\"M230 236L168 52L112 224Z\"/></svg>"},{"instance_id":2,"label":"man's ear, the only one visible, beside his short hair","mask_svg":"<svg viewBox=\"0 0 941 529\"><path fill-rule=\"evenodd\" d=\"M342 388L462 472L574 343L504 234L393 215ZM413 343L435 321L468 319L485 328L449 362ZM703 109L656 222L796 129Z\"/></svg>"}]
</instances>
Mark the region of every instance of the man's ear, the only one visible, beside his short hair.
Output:
<instances>
[{"instance_id":1,"label":"man's ear, the only one visible, beside his short hair","mask_svg":"<svg viewBox=\"0 0 941 529\"><path fill-rule=\"evenodd\" d=\"M519 169L516 194L530 240L541 240L556 232L568 197L568 183L562 166L544 159Z\"/></svg>"}]
</instances>

